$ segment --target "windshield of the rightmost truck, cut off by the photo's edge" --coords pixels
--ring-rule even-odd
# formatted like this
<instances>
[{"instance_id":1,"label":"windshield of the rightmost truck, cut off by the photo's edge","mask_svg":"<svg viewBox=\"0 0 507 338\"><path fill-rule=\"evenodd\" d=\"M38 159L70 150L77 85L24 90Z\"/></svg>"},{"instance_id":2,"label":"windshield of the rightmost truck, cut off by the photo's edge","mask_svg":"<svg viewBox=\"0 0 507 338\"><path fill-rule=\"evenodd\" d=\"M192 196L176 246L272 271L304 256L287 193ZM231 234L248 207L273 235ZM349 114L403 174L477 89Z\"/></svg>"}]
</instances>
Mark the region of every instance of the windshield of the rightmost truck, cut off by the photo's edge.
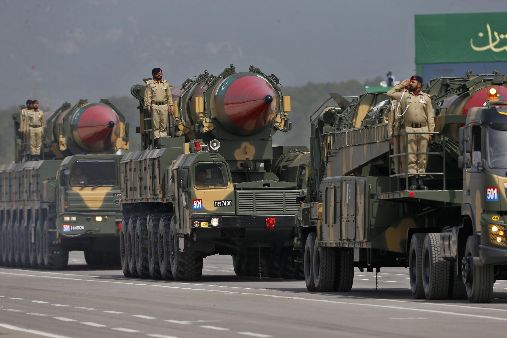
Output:
<instances>
[{"instance_id":1,"label":"windshield of the rightmost truck, cut off by the photo's edge","mask_svg":"<svg viewBox=\"0 0 507 338\"><path fill-rule=\"evenodd\" d=\"M507 168L507 124L488 123L487 152L490 168Z\"/></svg>"}]
</instances>

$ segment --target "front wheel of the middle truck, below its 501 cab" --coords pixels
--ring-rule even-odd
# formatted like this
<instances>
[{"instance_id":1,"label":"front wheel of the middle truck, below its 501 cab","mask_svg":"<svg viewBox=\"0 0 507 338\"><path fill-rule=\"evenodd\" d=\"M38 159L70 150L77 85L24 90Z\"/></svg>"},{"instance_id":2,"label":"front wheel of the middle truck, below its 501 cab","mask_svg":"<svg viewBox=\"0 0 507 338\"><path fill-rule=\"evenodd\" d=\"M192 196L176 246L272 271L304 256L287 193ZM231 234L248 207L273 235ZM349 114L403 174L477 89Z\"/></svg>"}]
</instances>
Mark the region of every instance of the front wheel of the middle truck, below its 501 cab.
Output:
<instances>
[{"instance_id":1,"label":"front wheel of the middle truck, below its 501 cab","mask_svg":"<svg viewBox=\"0 0 507 338\"><path fill-rule=\"evenodd\" d=\"M171 221L169 229L169 258L175 281L197 281L202 276L202 253L181 252L178 249L176 226Z\"/></svg>"}]
</instances>

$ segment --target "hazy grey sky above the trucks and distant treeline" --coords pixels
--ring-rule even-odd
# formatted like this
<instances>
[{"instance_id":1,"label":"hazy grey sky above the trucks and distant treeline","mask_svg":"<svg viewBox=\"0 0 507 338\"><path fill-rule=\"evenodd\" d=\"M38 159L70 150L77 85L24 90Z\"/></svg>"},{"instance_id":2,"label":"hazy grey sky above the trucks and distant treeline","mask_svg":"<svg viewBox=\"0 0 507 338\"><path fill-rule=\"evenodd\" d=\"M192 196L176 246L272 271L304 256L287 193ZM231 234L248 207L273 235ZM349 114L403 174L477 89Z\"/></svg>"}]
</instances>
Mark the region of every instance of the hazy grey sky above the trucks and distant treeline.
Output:
<instances>
[{"instance_id":1,"label":"hazy grey sky above the trucks and distant treeline","mask_svg":"<svg viewBox=\"0 0 507 338\"><path fill-rule=\"evenodd\" d=\"M179 85L230 63L282 85L415 71L414 15L507 11L505 0L0 0L0 108L130 95L161 67ZM35 70L31 67L35 66Z\"/></svg>"}]
</instances>

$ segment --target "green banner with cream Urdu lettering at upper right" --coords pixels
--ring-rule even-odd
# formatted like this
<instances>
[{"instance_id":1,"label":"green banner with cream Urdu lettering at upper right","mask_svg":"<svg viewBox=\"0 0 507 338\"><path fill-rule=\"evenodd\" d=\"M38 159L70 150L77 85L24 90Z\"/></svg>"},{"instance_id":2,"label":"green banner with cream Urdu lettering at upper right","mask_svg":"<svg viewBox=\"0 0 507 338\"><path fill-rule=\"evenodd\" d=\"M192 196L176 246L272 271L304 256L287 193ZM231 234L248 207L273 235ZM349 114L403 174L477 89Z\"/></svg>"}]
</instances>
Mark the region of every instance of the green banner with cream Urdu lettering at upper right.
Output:
<instances>
[{"instance_id":1,"label":"green banner with cream Urdu lettering at upper right","mask_svg":"<svg viewBox=\"0 0 507 338\"><path fill-rule=\"evenodd\" d=\"M415 16L415 63L507 61L507 12Z\"/></svg>"}]
</instances>

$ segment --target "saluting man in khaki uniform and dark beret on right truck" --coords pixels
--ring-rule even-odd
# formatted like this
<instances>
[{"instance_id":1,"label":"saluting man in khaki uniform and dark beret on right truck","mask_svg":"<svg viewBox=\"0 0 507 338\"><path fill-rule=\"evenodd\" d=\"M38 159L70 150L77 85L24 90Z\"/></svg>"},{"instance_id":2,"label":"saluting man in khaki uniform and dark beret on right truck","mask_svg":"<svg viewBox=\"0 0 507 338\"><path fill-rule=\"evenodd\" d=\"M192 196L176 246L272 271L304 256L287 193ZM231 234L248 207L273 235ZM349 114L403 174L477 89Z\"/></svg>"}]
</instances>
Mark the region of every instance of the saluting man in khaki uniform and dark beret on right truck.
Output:
<instances>
[{"instance_id":1,"label":"saluting man in khaki uniform and dark beret on right truck","mask_svg":"<svg viewBox=\"0 0 507 338\"><path fill-rule=\"evenodd\" d=\"M409 92L399 92L405 86L409 86ZM429 95L421 92L422 78L414 75L410 79L404 80L391 88L387 95L400 102L399 114L397 114L398 122L394 125L394 135L396 140L400 140L400 130L405 128L406 132L433 132L435 123L433 120L433 106ZM428 140L432 136L429 134L408 135L408 144L406 135L402 135L401 148L407 149L409 153L425 153L428 147ZM408 172L423 173L426 170L426 155L409 155L408 156ZM409 190L428 190L423 184L422 176L410 176Z\"/></svg>"}]
</instances>

